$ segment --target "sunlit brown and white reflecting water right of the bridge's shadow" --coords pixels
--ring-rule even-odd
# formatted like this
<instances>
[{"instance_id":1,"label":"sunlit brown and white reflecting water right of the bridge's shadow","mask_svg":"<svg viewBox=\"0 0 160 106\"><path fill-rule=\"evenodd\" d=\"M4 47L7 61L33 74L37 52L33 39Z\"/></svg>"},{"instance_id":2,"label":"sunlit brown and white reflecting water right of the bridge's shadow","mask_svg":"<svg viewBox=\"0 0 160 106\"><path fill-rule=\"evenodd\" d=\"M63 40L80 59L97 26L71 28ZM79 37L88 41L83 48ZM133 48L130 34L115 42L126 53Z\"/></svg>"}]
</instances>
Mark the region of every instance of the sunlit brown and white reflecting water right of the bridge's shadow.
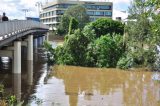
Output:
<instances>
[{"instance_id":1,"label":"sunlit brown and white reflecting water right of the bridge's shadow","mask_svg":"<svg viewBox=\"0 0 160 106\"><path fill-rule=\"evenodd\" d=\"M142 70L54 66L35 95L44 106L159 106L160 83L151 75Z\"/></svg>"}]
</instances>

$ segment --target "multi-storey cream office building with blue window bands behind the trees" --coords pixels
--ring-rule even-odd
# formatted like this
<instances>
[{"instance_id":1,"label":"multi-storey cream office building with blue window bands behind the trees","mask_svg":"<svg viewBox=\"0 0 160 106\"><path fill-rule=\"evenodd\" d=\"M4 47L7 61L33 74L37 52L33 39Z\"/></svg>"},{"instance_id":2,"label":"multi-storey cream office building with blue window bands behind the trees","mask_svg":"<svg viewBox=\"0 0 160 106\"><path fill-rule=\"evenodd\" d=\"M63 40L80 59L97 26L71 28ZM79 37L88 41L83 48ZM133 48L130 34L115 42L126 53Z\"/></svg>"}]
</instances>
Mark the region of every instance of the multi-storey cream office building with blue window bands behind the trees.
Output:
<instances>
[{"instance_id":1,"label":"multi-storey cream office building with blue window bands behind the trees","mask_svg":"<svg viewBox=\"0 0 160 106\"><path fill-rule=\"evenodd\" d=\"M57 25L60 23L61 16L67 8L73 5L83 5L87 10L90 21L94 21L102 17L112 18L112 2L53 0L53 2L49 2L42 7L42 11L40 12L40 20L44 24L49 25L51 30L56 29Z\"/></svg>"}]
</instances>

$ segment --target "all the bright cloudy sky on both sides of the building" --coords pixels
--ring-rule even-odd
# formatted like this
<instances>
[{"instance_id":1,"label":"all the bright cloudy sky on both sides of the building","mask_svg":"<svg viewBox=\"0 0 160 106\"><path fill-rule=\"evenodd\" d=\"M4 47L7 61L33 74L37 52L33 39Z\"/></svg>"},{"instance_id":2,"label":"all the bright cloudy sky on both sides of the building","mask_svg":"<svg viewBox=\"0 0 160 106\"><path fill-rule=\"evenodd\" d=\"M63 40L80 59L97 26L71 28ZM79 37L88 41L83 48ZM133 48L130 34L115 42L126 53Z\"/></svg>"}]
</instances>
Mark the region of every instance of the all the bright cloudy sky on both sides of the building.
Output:
<instances>
[{"instance_id":1,"label":"all the bright cloudy sky on both sides of the building","mask_svg":"<svg viewBox=\"0 0 160 106\"><path fill-rule=\"evenodd\" d=\"M53 0L48 0L48 2ZM93 0L88 0L93 1ZM96 0L94 0L96 1ZM98 0L97 0L98 1ZM127 11L131 0L99 0L99 1L112 1L113 2L113 18L127 17L127 13L121 11ZM28 9L26 16L38 17L38 7L35 6L36 2L42 2L46 0L0 0L0 14L6 12L9 19L24 19L25 13L23 9Z\"/></svg>"}]
</instances>

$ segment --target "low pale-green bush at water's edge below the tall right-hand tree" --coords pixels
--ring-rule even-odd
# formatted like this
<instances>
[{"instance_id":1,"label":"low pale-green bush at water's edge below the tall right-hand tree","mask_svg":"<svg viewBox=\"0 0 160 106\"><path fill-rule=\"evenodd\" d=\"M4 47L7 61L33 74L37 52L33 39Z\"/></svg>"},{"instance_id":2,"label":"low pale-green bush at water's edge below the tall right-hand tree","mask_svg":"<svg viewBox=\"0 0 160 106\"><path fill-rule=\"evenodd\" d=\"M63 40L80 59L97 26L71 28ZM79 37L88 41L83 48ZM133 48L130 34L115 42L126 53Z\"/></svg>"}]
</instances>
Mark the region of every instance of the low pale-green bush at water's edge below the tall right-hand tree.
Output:
<instances>
[{"instance_id":1,"label":"low pale-green bush at water's edge below the tall right-hand tree","mask_svg":"<svg viewBox=\"0 0 160 106\"><path fill-rule=\"evenodd\" d=\"M154 68L156 62L156 53L151 50L144 51L130 51L123 55L117 67L121 69L128 69L131 67L148 67Z\"/></svg>"}]
</instances>

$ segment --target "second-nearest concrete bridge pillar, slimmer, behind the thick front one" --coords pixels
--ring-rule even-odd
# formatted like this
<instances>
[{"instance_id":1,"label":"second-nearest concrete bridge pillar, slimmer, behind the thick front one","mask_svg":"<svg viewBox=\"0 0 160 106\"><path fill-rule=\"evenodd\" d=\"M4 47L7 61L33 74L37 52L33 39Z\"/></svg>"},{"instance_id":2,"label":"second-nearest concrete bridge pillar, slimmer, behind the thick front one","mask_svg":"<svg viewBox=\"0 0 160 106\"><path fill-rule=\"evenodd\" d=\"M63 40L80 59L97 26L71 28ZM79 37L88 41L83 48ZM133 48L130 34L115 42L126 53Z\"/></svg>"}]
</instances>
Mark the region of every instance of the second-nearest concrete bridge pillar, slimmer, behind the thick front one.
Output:
<instances>
[{"instance_id":1,"label":"second-nearest concrete bridge pillar, slimmer, behind the thick front one","mask_svg":"<svg viewBox=\"0 0 160 106\"><path fill-rule=\"evenodd\" d=\"M27 60L33 61L33 35L28 36Z\"/></svg>"}]
</instances>

